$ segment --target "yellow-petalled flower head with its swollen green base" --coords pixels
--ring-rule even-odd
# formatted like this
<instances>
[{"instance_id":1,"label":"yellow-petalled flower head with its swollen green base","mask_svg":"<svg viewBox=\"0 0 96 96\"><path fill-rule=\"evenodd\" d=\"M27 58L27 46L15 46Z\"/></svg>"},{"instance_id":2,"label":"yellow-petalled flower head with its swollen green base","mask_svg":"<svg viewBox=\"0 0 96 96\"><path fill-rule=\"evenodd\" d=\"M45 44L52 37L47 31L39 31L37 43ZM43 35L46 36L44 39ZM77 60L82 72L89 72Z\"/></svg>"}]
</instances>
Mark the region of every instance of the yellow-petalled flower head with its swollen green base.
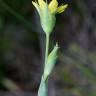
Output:
<instances>
[{"instance_id":1,"label":"yellow-petalled flower head with its swollen green base","mask_svg":"<svg viewBox=\"0 0 96 96\"><path fill-rule=\"evenodd\" d=\"M68 6L68 4L65 4L58 7L57 0L52 0L49 5L44 0L32 1L32 4L40 15L41 25L45 33L51 33L53 30L56 21L55 14L62 13Z\"/></svg>"}]
</instances>

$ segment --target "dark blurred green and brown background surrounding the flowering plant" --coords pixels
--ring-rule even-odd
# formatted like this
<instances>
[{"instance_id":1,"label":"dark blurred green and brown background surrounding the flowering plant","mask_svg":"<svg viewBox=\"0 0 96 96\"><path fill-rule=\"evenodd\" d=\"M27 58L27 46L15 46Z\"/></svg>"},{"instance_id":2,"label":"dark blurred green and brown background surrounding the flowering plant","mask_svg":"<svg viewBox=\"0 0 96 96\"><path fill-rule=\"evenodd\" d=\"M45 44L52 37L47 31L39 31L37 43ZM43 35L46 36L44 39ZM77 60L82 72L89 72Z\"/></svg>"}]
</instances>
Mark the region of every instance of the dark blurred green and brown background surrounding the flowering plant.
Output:
<instances>
[{"instance_id":1,"label":"dark blurred green and brown background surrounding the flowering plant","mask_svg":"<svg viewBox=\"0 0 96 96\"><path fill-rule=\"evenodd\" d=\"M45 34L31 1L0 0L0 96L37 96ZM58 2L69 6L50 38L60 49L49 96L96 96L96 0Z\"/></svg>"}]
</instances>

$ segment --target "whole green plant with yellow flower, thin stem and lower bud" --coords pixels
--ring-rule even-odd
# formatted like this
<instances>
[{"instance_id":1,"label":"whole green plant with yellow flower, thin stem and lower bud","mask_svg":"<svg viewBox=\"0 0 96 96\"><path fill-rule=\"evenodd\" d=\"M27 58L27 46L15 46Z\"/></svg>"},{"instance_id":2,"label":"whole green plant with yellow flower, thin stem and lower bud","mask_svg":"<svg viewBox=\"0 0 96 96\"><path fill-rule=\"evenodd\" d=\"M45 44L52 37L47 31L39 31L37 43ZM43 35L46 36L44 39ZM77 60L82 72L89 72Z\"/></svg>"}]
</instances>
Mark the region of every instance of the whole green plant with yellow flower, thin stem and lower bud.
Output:
<instances>
[{"instance_id":1,"label":"whole green plant with yellow flower, thin stem and lower bud","mask_svg":"<svg viewBox=\"0 0 96 96\"><path fill-rule=\"evenodd\" d=\"M55 26L55 15L57 13L62 13L63 11L65 11L68 5L65 4L58 7L57 0L52 0L49 4L47 0L46 2L44 0L38 0L38 2L35 0L35 2L32 1L32 4L35 6L36 10L39 13L41 26L46 35L44 72L41 78L38 96L47 96L48 78L55 66L56 59L58 57L57 52L59 49L58 44L56 44L50 54L48 54L50 34Z\"/></svg>"}]
</instances>

